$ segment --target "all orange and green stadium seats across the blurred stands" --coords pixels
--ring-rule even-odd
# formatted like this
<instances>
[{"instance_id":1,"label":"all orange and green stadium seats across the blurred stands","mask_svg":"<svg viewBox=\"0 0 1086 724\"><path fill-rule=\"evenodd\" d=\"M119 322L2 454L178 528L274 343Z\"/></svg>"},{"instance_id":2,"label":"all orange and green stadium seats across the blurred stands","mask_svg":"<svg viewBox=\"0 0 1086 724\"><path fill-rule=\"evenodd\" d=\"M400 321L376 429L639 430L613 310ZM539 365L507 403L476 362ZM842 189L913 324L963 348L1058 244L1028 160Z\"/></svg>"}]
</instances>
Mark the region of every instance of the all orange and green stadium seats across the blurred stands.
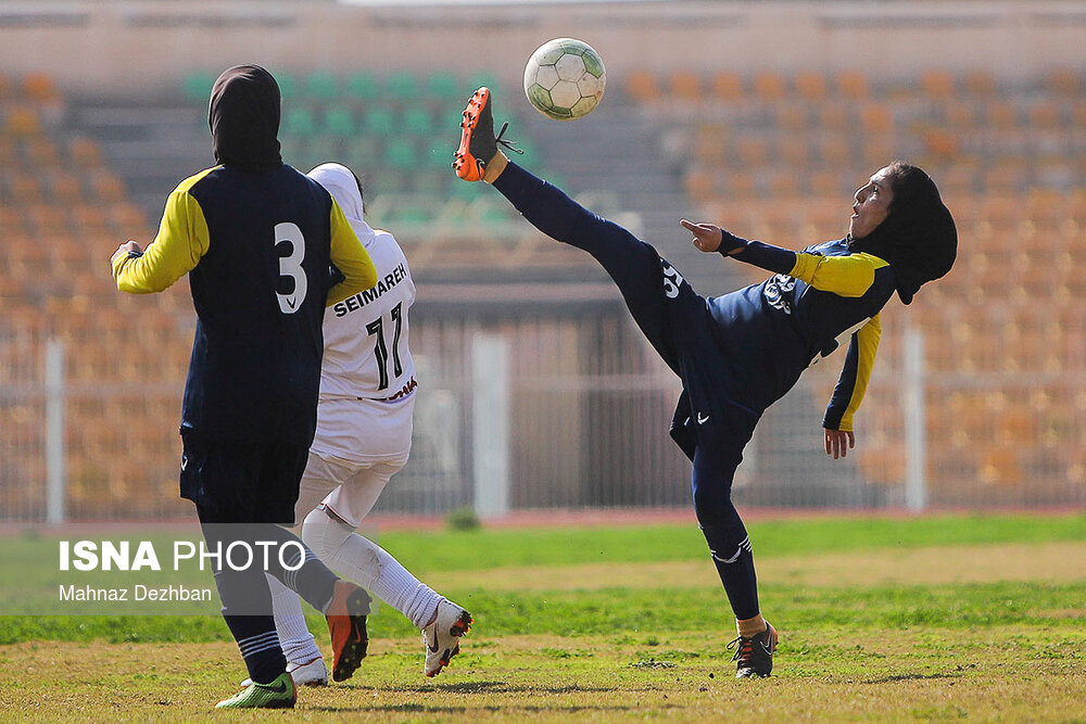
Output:
<instances>
[{"instance_id":1,"label":"all orange and green stadium seats across the blurred stands","mask_svg":"<svg viewBox=\"0 0 1086 724\"><path fill-rule=\"evenodd\" d=\"M328 160L356 166L370 220L396 231L420 271L585 264L527 230L507 204L453 182L450 128L463 90L493 78L277 75L289 103L287 158L300 168ZM179 79L176 102L202 109L213 80L195 72ZM933 501L968 503L958 483L975 479L993 500L1043 503L1086 481L1086 393L1062 374L1086 369L1086 310L1077 304L1086 280L1075 274L1086 264L1084 81L1071 71L1016 85L984 69L895 82L862 73L644 71L614 80L608 100L631 105L647 120L630 128L647 128L674 151L686 208L781 245L839 236L853 185L891 157L930 170L956 213L960 262L907 313L892 304L885 319L889 329L922 328L929 370L950 380L925 399ZM426 102L407 102L419 97ZM163 420L176 419L191 305L184 281L144 299L113 289L105 258L121 240L151 238L156 211L136 199L129 170L108 157L104 141L54 120L65 102L46 76L0 76L0 340L55 336L68 345L67 384L78 393L66 429L74 516L169 517L187 510L176 493L179 442ZM203 123L202 111L192 115ZM521 120L529 163L565 173L551 157L533 158L542 143ZM617 161L604 172L613 181L601 188L636 176ZM599 209L621 211L608 205ZM747 282L762 277L742 274ZM899 356L897 334L883 345L886 359ZM836 369L812 370L816 397ZM872 434L858 470L873 490L905 474L898 372L877 372L861 412ZM4 461L5 474L25 481L5 486L7 510L40 508L45 470L31 431L41 424L33 405L0 406L4 435L28 441L18 459Z\"/></svg>"}]
</instances>

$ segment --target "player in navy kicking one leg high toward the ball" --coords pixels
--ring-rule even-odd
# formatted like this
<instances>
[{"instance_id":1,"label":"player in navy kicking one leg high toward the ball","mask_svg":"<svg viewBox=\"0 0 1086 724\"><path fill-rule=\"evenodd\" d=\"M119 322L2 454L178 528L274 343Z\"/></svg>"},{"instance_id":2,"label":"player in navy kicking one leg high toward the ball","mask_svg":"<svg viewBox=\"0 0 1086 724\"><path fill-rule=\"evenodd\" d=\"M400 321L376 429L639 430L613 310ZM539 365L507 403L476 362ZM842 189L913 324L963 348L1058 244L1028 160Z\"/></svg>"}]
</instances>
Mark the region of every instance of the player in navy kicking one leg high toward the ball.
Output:
<instances>
[{"instance_id":1,"label":"player in navy kicking one leg high toward the ball","mask_svg":"<svg viewBox=\"0 0 1086 724\"><path fill-rule=\"evenodd\" d=\"M544 233L592 254L682 379L671 436L693 462L694 510L735 614L738 637L729 648L736 676L768 676L778 634L761 615L750 538L731 501L743 447L766 408L847 341L822 423L826 454L847 454L879 344L879 312L895 291L909 304L922 284L950 270L954 218L927 174L895 162L857 190L846 238L803 252L683 219L698 250L775 275L723 296L699 296L653 246L509 162L498 144L512 144L495 138L490 101L480 88L468 102L453 168L464 180L493 185Z\"/></svg>"}]
</instances>

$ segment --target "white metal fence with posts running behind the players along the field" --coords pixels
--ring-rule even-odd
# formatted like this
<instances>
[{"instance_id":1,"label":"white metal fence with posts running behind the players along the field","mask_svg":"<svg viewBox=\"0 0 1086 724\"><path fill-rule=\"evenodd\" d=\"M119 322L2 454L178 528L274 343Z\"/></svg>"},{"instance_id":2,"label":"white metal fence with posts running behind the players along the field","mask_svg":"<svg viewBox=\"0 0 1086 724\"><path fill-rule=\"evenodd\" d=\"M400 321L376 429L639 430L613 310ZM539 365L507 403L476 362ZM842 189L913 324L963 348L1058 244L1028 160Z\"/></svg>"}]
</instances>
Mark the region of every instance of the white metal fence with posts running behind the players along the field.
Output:
<instances>
[{"instance_id":1,"label":"white metal fence with posts running behind the players along the field","mask_svg":"<svg viewBox=\"0 0 1086 724\"><path fill-rule=\"evenodd\" d=\"M767 412L736 480L741 506L1086 505L1082 372L947 371L932 363L954 351L925 354L920 330L886 327L857 448L837 461L821 450L838 353ZM689 463L667 435L678 381L618 304L420 316L412 331L413 455L378 510L689 505ZM184 379L71 384L74 354L43 334L0 339L0 521L190 515L177 496Z\"/></svg>"}]
</instances>

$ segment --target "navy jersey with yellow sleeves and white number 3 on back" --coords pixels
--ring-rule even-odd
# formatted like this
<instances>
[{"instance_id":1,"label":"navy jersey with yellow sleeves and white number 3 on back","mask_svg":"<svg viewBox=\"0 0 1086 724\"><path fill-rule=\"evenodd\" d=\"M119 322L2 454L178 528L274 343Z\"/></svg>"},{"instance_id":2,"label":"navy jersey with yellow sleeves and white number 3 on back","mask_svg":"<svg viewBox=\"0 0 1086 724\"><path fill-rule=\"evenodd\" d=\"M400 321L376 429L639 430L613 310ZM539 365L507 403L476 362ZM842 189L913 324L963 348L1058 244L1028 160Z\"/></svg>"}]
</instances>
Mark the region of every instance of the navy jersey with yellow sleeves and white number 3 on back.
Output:
<instances>
[{"instance_id":1,"label":"navy jersey with yellow sleeves and white number 3 on back","mask_svg":"<svg viewBox=\"0 0 1086 724\"><path fill-rule=\"evenodd\" d=\"M343 278L336 285L332 264ZM285 164L201 172L169 194L144 254L113 266L117 288L131 293L162 291L185 274L198 319L181 429L308 444L325 307L376 281L339 206Z\"/></svg>"}]
</instances>

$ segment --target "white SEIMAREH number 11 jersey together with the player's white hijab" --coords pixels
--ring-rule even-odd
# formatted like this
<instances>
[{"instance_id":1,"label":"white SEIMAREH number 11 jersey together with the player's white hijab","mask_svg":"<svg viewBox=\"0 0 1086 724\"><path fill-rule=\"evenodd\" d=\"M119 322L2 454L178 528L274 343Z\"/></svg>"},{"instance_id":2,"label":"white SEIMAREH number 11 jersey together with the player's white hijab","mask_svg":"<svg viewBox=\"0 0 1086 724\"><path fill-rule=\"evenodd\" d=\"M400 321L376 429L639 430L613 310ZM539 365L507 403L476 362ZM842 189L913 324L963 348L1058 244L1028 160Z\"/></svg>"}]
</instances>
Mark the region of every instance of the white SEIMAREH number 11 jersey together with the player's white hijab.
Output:
<instances>
[{"instance_id":1,"label":"white SEIMAREH number 11 jersey together with the player's white hijab","mask_svg":"<svg viewBox=\"0 0 1086 724\"><path fill-rule=\"evenodd\" d=\"M405 460L415 408L408 309L415 282L388 231L362 219L354 175L338 164L310 174L343 209L377 268L377 284L325 309L317 432L312 449L345 460Z\"/></svg>"}]
</instances>

